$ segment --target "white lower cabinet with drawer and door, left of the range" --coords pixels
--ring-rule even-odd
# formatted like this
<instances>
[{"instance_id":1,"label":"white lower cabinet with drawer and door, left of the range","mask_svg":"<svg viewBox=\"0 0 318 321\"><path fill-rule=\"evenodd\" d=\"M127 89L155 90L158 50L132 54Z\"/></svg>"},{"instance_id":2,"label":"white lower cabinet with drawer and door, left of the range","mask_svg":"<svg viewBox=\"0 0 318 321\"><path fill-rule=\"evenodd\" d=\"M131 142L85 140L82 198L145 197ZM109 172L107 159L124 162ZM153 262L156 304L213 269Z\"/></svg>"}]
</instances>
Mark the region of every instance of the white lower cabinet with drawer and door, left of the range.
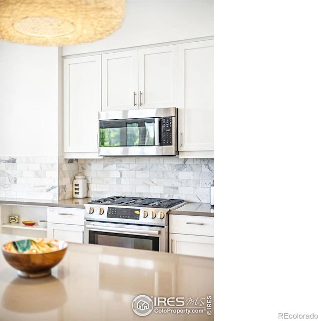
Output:
<instances>
[{"instance_id":1,"label":"white lower cabinet with drawer and door, left of the range","mask_svg":"<svg viewBox=\"0 0 318 321\"><path fill-rule=\"evenodd\" d=\"M48 207L48 238L83 243L84 209Z\"/></svg>"}]
</instances>

